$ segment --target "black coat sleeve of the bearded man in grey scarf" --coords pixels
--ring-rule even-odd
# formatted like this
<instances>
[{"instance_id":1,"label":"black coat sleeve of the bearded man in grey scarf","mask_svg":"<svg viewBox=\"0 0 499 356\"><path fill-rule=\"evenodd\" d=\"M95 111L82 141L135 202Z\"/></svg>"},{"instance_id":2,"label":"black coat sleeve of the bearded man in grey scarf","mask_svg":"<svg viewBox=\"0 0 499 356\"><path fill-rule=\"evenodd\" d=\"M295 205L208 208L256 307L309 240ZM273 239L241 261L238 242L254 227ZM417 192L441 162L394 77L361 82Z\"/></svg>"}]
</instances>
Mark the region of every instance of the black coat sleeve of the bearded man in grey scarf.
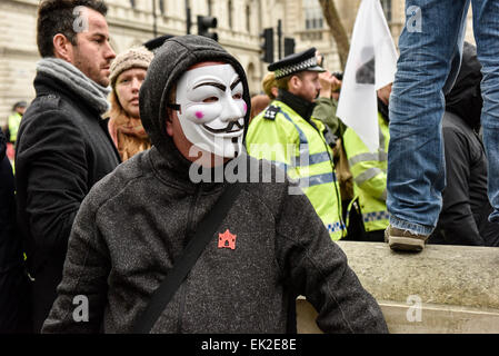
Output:
<instances>
[{"instance_id":1,"label":"black coat sleeve of the bearded man in grey scarf","mask_svg":"<svg viewBox=\"0 0 499 356\"><path fill-rule=\"evenodd\" d=\"M41 250L66 255L74 216L88 192L86 144L62 110L47 110L22 132L19 174L26 181L30 234Z\"/></svg>"}]
</instances>

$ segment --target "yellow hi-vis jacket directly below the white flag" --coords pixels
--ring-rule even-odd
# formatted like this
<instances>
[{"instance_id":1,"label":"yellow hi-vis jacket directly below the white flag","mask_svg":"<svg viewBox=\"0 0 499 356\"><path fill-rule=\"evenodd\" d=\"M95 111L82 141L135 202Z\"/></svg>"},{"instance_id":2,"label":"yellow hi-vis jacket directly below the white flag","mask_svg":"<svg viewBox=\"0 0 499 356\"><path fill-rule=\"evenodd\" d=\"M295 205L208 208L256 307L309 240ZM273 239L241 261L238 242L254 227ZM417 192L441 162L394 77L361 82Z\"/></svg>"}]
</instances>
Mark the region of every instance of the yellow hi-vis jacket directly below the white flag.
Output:
<instances>
[{"instance_id":1,"label":"yellow hi-vis jacket directly below the white flag","mask_svg":"<svg viewBox=\"0 0 499 356\"><path fill-rule=\"evenodd\" d=\"M387 168L390 132L388 122L380 113L378 113L378 125L379 149L377 152L371 152L351 128L347 128L343 134L343 147L353 176L352 201L359 199L366 231L382 230L389 224Z\"/></svg>"}]
</instances>

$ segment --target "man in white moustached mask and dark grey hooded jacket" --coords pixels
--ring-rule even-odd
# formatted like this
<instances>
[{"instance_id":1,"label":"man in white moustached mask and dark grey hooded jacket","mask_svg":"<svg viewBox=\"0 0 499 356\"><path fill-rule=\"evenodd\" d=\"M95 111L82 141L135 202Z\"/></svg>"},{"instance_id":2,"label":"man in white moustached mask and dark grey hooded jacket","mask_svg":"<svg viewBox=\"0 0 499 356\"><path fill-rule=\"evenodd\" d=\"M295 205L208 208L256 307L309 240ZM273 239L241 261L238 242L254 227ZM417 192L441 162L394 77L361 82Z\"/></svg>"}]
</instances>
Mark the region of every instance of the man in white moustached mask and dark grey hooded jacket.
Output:
<instances>
[{"instance_id":1,"label":"man in white moustached mask and dark grey hooded jacket","mask_svg":"<svg viewBox=\"0 0 499 356\"><path fill-rule=\"evenodd\" d=\"M193 182L191 167L275 168L242 150L248 93L241 65L208 38L176 37L156 52L139 99L153 146L120 165L82 204L44 333L132 332L201 219L230 189L224 179ZM293 323L288 296L300 294L320 310L323 332L386 333L378 304L308 199L289 195L287 180L239 185L150 332L286 333ZM79 295L91 306L87 323L72 317Z\"/></svg>"}]
</instances>

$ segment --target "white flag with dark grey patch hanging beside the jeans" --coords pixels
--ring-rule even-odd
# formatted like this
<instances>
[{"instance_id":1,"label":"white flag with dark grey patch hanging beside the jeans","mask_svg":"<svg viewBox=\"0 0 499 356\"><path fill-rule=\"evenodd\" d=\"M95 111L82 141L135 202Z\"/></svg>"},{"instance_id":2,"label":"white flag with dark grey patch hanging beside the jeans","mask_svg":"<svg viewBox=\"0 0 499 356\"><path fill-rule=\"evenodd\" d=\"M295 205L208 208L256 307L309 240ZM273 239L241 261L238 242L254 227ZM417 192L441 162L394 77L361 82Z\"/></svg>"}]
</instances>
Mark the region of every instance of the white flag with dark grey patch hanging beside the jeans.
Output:
<instances>
[{"instance_id":1,"label":"white flag with dark grey patch hanging beside the jeans","mask_svg":"<svg viewBox=\"0 0 499 356\"><path fill-rule=\"evenodd\" d=\"M379 148L376 91L393 82L397 50L379 0L362 0L357 13L337 116L369 150Z\"/></svg>"}]
</instances>

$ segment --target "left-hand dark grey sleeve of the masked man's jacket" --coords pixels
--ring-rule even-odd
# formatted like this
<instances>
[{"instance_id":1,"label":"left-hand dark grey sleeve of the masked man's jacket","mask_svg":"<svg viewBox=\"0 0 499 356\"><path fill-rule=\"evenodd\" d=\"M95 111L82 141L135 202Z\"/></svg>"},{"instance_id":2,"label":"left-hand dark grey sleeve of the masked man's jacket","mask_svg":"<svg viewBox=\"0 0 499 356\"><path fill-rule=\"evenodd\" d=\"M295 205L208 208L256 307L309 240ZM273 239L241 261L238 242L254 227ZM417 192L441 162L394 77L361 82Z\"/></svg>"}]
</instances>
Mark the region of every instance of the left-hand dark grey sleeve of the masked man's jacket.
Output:
<instances>
[{"instance_id":1,"label":"left-hand dark grey sleeve of the masked man's jacket","mask_svg":"<svg viewBox=\"0 0 499 356\"><path fill-rule=\"evenodd\" d=\"M58 297L43 334L97 334L101 329L111 270L109 250L97 227L98 207L83 200L69 239Z\"/></svg>"}]
</instances>

